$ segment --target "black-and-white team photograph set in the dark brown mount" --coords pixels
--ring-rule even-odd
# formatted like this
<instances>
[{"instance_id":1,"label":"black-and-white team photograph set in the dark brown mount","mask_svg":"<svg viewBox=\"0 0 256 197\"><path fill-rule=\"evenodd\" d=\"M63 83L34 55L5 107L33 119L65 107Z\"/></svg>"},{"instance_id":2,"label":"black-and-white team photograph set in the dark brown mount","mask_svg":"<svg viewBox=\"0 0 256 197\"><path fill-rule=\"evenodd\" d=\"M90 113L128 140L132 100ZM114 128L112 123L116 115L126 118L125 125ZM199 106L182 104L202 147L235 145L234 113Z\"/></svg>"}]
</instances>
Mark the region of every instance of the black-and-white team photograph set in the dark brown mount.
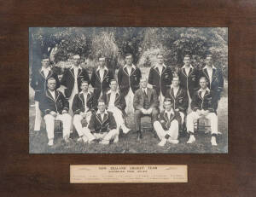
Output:
<instances>
[{"instance_id":1,"label":"black-and-white team photograph set in the dark brown mount","mask_svg":"<svg viewBox=\"0 0 256 197\"><path fill-rule=\"evenodd\" d=\"M30 27L30 154L227 154L227 27Z\"/></svg>"}]
</instances>

